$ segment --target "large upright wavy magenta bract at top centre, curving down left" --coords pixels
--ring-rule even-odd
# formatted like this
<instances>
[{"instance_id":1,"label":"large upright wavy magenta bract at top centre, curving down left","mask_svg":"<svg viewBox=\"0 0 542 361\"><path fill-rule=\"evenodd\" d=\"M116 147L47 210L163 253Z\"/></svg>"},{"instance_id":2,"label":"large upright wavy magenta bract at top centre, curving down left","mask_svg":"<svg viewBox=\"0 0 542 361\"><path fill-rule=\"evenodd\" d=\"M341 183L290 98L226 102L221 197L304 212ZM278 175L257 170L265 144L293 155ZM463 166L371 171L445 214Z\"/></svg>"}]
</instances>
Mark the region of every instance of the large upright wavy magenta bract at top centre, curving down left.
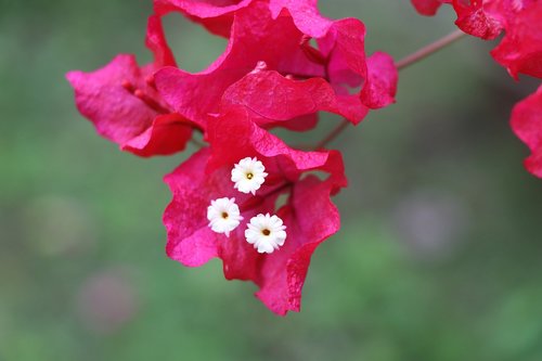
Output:
<instances>
[{"instance_id":1,"label":"large upright wavy magenta bract at top centre, curving down left","mask_svg":"<svg viewBox=\"0 0 542 361\"><path fill-rule=\"evenodd\" d=\"M302 34L289 16L273 20L268 5L256 2L235 13L227 50L206 70L189 74L164 68L156 74L156 86L177 113L205 121L207 114L218 113L223 92L259 62L284 75L323 75L323 66L305 55L301 39Z\"/></svg>"}]
</instances>

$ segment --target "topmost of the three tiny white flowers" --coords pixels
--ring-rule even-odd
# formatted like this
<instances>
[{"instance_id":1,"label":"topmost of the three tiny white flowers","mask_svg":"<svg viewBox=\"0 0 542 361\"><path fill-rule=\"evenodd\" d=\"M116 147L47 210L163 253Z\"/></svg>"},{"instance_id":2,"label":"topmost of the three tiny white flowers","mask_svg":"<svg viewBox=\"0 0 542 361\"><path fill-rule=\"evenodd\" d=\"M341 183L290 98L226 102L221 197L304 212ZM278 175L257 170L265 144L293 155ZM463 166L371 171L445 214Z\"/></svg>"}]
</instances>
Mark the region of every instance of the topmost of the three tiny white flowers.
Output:
<instances>
[{"instance_id":1,"label":"topmost of the three tiny white flowers","mask_svg":"<svg viewBox=\"0 0 542 361\"><path fill-rule=\"evenodd\" d=\"M234 189L243 193L256 194L266 181L266 167L256 157L246 157L240 160L232 169L232 182Z\"/></svg>"}]
</instances>

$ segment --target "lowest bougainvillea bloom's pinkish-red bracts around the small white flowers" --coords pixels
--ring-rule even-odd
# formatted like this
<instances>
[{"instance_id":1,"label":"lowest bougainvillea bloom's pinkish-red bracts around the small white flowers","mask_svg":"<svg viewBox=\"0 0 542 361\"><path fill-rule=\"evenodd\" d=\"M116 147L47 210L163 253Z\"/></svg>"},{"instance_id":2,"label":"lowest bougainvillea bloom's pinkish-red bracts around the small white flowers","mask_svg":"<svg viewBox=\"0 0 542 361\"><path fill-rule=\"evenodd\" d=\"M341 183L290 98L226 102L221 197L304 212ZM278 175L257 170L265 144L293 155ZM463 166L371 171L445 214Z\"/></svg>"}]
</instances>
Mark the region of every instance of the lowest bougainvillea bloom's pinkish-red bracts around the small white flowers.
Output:
<instances>
[{"instance_id":1,"label":"lowest bougainvillea bloom's pinkish-red bracts around the small white flowers","mask_svg":"<svg viewBox=\"0 0 542 361\"><path fill-rule=\"evenodd\" d=\"M311 255L339 228L330 196L346 186L340 154L293 150L256 126L242 107L209 120L208 137L210 149L201 150L165 178L172 192L164 215L168 256L188 267L218 257L225 278L256 283L256 296L273 312L299 311ZM261 162L269 175L256 195L238 192L230 179L234 165L246 157ZM322 180L313 171L328 176ZM281 206L278 199L284 195L287 201ZM212 201L224 197L235 198L243 218L229 237L212 231L206 217ZM248 223L257 229L258 217L274 224L269 232L278 234L274 249L260 244L255 249L249 242L259 241L250 232L247 241Z\"/></svg>"}]
</instances>

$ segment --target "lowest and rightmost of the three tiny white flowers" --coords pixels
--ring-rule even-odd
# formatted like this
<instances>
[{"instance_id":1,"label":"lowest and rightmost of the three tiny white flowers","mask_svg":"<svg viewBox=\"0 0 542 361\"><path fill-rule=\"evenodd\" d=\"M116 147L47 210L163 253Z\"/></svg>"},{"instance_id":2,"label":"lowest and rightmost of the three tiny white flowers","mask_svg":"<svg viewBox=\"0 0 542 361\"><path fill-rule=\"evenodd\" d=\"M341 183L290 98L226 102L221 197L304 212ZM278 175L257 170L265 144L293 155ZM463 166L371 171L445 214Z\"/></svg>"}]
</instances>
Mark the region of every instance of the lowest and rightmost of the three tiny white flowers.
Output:
<instances>
[{"instance_id":1,"label":"lowest and rightmost of the three tiny white flowers","mask_svg":"<svg viewBox=\"0 0 542 361\"><path fill-rule=\"evenodd\" d=\"M286 225L282 219L276 216L267 214L258 215L250 219L247 229L245 230L246 242L254 245L258 253L271 254L284 245L286 240Z\"/></svg>"}]
</instances>

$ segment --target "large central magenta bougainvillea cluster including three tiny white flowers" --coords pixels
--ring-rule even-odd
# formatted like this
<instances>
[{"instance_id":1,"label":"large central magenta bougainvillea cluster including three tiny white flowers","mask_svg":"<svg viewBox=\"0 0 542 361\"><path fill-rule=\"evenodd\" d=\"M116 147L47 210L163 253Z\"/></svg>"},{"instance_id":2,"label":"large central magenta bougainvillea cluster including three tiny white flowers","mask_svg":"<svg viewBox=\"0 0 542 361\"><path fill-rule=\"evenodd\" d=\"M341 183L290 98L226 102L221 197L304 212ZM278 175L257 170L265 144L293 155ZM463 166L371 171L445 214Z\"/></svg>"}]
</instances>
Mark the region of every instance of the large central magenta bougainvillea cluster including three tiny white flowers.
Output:
<instances>
[{"instance_id":1,"label":"large central magenta bougainvillea cluster including three tiny white flowers","mask_svg":"<svg viewBox=\"0 0 542 361\"><path fill-rule=\"evenodd\" d=\"M162 25L171 12L228 39L203 72L177 66ZM227 279L253 281L285 314L299 310L312 253L339 228L331 196L346 178L339 152L300 151L269 130L309 130L319 112L357 125L393 103L393 60L367 56L364 38L362 22L328 20L315 0L155 0L151 64L120 54L67 78L80 113L124 151L170 155L203 134L208 145L165 177L167 254L189 267L220 258Z\"/></svg>"}]
</instances>

